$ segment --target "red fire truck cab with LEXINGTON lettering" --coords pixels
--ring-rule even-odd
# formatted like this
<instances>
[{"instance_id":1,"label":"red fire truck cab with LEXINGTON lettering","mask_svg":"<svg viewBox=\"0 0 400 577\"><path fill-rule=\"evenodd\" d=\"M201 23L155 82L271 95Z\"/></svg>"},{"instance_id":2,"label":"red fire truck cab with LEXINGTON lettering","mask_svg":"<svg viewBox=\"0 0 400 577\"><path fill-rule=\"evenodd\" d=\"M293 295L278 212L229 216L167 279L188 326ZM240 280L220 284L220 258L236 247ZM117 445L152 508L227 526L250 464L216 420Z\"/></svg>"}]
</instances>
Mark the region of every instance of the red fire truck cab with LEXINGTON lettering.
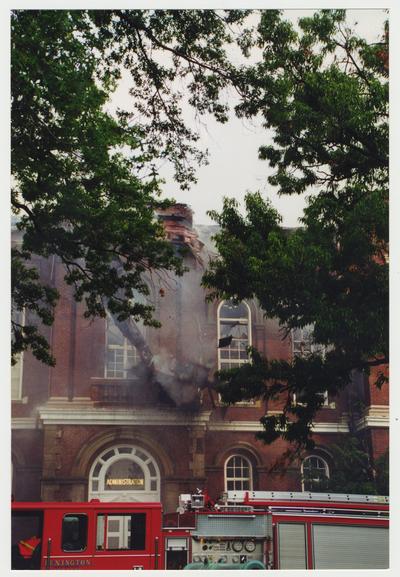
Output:
<instances>
[{"instance_id":1,"label":"red fire truck cab with LEXINGTON lettering","mask_svg":"<svg viewBox=\"0 0 400 577\"><path fill-rule=\"evenodd\" d=\"M12 569L163 569L161 526L160 503L13 503Z\"/></svg>"}]
</instances>

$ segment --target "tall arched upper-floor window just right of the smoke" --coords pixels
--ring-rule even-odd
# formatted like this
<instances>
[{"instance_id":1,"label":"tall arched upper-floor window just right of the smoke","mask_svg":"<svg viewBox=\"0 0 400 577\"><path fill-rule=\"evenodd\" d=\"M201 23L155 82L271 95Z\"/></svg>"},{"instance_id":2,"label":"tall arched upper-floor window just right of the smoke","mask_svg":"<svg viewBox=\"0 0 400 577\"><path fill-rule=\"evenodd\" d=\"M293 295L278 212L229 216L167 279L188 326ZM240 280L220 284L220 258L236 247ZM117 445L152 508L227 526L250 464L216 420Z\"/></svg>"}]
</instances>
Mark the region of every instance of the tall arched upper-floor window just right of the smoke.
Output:
<instances>
[{"instance_id":1,"label":"tall arched upper-floor window just right of the smoke","mask_svg":"<svg viewBox=\"0 0 400 577\"><path fill-rule=\"evenodd\" d=\"M232 338L231 338L232 337ZM249 361L251 315L246 302L222 301L218 307L218 369L232 369Z\"/></svg>"}]
</instances>

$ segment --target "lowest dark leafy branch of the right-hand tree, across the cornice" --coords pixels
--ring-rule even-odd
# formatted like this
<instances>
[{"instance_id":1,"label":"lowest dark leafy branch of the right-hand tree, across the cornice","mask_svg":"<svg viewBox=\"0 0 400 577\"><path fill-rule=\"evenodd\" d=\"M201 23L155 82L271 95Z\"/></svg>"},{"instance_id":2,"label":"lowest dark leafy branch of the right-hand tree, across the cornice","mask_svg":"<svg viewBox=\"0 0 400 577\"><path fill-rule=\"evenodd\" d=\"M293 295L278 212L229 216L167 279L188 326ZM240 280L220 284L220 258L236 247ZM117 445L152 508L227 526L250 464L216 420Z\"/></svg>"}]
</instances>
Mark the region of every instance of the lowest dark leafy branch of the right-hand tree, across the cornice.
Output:
<instances>
[{"instance_id":1,"label":"lowest dark leafy branch of the right-hand tree, across the cornice","mask_svg":"<svg viewBox=\"0 0 400 577\"><path fill-rule=\"evenodd\" d=\"M218 372L217 391L224 402L233 404L242 400L261 398L268 404L280 399L282 413L260 419L264 430L257 437L266 443L283 438L290 443L314 447L310 430L316 412L324 403L324 393L331 396L348 384L349 371L341 356L330 351L322 358L319 354L296 356L292 362L271 360L250 348L251 363L237 369ZM294 402L297 396L301 402Z\"/></svg>"}]
</instances>

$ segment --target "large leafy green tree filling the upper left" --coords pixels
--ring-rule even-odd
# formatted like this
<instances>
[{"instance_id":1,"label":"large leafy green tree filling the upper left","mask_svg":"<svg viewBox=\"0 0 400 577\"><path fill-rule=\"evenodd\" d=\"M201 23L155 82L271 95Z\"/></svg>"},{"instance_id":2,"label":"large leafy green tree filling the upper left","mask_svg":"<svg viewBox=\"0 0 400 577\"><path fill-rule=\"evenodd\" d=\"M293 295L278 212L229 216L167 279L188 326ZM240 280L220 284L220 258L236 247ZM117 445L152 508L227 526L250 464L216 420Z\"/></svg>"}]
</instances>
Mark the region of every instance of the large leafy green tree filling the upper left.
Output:
<instances>
[{"instance_id":1,"label":"large leafy green tree filling the upper left","mask_svg":"<svg viewBox=\"0 0 400 577\"><path fill-rule=\"evenodd\" d=\"M146 274L183 273L155 220L166 206L159 160L187 187L204 161L183 120L190 104L226 121L219 91L235 84L225 49L244 11L19 10L12 25L12 208L22 245L12 252L13 357L27 348L55 362L40 323L51 325L58 293L41 284L32 255L55 255L86 316L157 326ZM164 56L163 56L164 55ZM168 57L167 57L168 56ZM107 110L121 71L132 107ZM25 323L20 320L25 311Z\"/></svg>"}]
</instances>

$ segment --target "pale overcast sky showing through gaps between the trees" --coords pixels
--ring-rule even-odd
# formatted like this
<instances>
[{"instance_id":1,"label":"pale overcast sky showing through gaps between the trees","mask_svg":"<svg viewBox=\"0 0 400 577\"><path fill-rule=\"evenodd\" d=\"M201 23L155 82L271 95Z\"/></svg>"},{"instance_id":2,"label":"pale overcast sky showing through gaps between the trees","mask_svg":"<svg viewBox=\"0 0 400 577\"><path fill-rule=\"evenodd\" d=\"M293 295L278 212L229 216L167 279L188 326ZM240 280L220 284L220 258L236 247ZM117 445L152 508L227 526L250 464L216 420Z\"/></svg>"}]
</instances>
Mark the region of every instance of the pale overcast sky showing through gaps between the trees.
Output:
<instances>
[{"instance_id":1,"label":"pale overcast sky showing through gaps between the trees","mask_svg":"<svg viewBox=\"0 0 400 577\"><path fill-rule=\"evenodd\" d=\"M285 14L293 21L313 10L286 10ZM348 10L349 24L357 22L360 35L370 41L376 41L382 34L382 24L387 14L381 10ZM130 79L126 77L115 96L115 103L129 106ZM234 95L232 95L234 97ZM232 101L234 104L234 101ZM166 179L164 196L173 197L178 202L189 204L194 210L197 224L210 224L206 214L210 209L220 210L224 196L235 197L240 202L247 191L259 190L269 197L273 205L283 216L284 226L298 225L305 206L304 196L278 197L268 184L267 177L271 169L266 161L258 159L258 148L270 140L270 135L262 128L261 122L238 119L231 115L228 123L222 125L211 116L204 117L200 130L202 149L209 150L209 164L198 168L198 182L189 191L181 191L174 183L172 170L164 167L162 175Z\"/></svg>"}]
</instances>

